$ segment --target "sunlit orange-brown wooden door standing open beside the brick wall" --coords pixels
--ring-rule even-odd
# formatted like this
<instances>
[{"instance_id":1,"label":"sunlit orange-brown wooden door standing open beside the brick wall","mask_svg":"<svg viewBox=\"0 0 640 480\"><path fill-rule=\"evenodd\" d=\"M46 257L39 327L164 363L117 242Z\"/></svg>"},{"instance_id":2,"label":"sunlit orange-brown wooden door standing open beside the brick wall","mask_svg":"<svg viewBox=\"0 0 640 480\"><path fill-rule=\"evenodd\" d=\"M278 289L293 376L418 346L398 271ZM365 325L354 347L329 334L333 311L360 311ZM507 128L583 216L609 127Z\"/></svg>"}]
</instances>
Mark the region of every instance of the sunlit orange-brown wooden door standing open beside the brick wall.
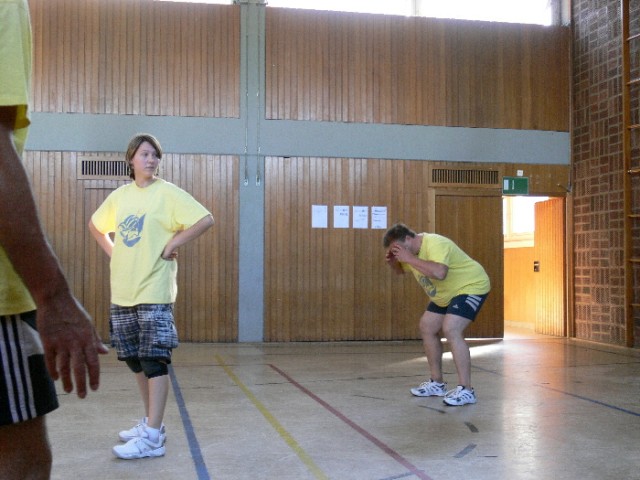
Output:
<instances>
[{"instance_id":1,"label":"sunlit orange-brown wooden door standing open beside the brick wall","mask_svg":"<svg viewBox=\"0 0 640 480\"><path fill-rule=\"evenodd\" d=\"M566 335L564 209L564 198L535 204L535 331L545 335Z\"/></svg>"}]
</instances>

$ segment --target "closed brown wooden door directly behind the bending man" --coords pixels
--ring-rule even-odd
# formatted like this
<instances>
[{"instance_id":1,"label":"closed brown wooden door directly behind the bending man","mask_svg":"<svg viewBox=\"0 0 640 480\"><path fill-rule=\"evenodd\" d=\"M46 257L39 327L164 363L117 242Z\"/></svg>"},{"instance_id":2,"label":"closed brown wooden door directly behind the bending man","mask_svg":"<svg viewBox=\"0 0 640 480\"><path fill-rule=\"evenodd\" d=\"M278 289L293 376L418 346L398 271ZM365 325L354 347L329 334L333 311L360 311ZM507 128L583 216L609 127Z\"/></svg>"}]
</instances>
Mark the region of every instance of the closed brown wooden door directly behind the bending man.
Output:
<instances>
[{"instance_id":1,"label":"closed brown wooden door directly behind the bending man","mask_svg":"<svg viewBox=\"0 0 640 480\"><path fill-rule=\"evenodd\" d=\"M435 233L449 237L480 262L491 279L491 293L467 329L467 338L504 336L504 240L502 197L482 193L438 192Z\"/></svg>"}]
</instances>

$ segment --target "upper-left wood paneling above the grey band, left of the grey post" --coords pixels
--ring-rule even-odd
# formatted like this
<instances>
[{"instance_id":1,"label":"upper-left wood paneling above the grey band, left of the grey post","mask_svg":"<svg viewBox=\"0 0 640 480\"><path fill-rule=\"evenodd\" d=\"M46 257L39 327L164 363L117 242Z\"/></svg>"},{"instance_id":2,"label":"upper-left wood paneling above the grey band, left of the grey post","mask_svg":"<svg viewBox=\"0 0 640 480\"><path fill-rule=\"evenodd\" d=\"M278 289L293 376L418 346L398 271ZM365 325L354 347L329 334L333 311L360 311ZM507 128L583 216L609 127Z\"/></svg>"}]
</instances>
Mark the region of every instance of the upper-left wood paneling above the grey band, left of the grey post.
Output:
<instances>
[{"instance_id":1,"label":"upper-left wood paneling above the grey band, left of the grey post","mask_svg":"<svg viewBox=\"0 0 640 480\"><path fill-rule=\"evenodd\" d=\"M239 116L238 6L29 3L35 111Z\"/></svg>"}]
</instances>

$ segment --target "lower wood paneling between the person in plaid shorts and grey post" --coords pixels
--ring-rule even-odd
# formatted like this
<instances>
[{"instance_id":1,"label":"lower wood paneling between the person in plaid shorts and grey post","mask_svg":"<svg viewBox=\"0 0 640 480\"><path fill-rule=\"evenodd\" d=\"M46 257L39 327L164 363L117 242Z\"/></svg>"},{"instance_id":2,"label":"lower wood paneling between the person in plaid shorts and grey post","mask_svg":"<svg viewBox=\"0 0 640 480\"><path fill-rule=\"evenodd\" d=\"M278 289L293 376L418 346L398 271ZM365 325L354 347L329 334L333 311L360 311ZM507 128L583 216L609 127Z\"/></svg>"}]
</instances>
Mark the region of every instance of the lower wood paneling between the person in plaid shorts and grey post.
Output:
<instances>
[{"instance_id":1,"label":"lower wood paneling between the person in plaid shorts and grey post","mask_svg":"<svg viewBox=\"0 0 640 480\"><path fill-rule=\"evenodd\" d=\"M163 163L164 177L187 190L215 219L212 230L180 251L178 333L185 341L237 341L238 159L167 155Z\"/></svg>"}]
</instances>

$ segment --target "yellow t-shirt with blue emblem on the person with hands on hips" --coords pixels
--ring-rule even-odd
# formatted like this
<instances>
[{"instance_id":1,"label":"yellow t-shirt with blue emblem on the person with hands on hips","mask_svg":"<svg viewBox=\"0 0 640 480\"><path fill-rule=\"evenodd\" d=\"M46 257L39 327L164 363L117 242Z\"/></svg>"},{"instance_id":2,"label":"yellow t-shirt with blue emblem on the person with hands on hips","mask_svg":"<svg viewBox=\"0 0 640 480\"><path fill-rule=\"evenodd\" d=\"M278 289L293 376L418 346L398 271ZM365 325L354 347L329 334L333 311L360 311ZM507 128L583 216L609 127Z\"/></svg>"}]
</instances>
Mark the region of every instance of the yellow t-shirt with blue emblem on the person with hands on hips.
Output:
<instances>
[{"instance_id":1,"label":"yellow t-shirt with blue emblem on the person with hands on hips","mask_svg":"<svg viewBox=\"0 0 640 480\"><path fill-rule=\"evenodd\" d=\"M178 264L162 259L162 252L176 233L207 215L191 195L162 179L146 188L132 182L113 191L91 217L101 233L115 232L111 303L175 302Z\"/></svg>"}]
</instances>

